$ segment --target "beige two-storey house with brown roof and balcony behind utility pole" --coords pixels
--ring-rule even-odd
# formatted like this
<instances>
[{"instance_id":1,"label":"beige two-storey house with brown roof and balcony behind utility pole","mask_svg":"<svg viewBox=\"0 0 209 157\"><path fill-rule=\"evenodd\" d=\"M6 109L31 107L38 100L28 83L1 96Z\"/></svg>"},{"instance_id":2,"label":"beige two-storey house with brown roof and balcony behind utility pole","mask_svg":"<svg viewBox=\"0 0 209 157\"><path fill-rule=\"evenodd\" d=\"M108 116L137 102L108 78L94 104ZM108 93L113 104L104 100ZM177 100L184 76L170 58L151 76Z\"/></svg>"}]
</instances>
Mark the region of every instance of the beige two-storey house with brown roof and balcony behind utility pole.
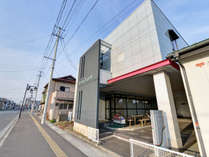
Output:
<instances>
[{"instance_id":1,"label":"beige two-storey house with brown roof and balcony behind utility pole","mask_svg":"<svg viewBox=\"0 0 209 157\"><path fill-rule=\"evenodd\" d=\"M75 82L76 79L71 75L52 79L47 108L49 120L67 120L69 111L73 109ZM48 84L45 85L42 92L42 109L47 90Z\"/></svg>"}]
</instances>

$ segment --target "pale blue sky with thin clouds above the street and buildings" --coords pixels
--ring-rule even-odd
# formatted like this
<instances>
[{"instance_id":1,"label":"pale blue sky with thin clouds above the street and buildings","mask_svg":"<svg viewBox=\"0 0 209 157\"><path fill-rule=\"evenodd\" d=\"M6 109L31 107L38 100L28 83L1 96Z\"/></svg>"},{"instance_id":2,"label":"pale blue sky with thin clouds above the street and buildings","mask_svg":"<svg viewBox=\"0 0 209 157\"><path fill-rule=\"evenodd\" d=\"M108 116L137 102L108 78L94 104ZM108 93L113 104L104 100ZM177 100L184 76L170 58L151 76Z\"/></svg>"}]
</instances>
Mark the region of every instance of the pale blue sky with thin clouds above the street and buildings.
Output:
<instances>
[{"instance_id":1,"label":"pale blue sky with thin clouds above the street and buildings","mask_svg":"<svg viewBox=\"0 0 209 157\"><path fill-rule=\"evenodd\" d=\"M69 36L77 27L93 0L79 0L80 5L73 12ZM78 2L79 2L78 1ZM80 55L98 38L104 38L142 0L136 0L123 15L115 20L104 32L95 34L104 24L133 0L100 0L80 31L67 45L71 63L59 49L55 76L76 75ZM110 3L111 2L111 3ZM192 44L209 37L208 0L155 0L177 30ZM1 0L0 2L0 97L19 101L23 97L26 83L33 84L41 65L44 48L49 40L61 0ZM46 62L40 89L48 81L49 65Z\"/></svg>"}]
</instances>

